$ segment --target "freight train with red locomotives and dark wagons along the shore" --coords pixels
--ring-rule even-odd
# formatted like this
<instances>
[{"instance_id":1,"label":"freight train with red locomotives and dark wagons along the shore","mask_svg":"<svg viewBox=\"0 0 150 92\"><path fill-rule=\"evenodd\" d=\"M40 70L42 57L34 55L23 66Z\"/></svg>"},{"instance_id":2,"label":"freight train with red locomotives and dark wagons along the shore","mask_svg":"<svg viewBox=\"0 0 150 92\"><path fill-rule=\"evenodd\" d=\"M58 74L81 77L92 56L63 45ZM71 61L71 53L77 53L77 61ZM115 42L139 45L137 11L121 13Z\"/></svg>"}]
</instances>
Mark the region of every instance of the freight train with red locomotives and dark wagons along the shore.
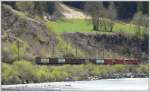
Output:
<instances>
[{"instance_id":1,"label":"freight train with red locomotives and dark wagons along the shore","mask_svg":"<svg viewBox=\"0 0 150 92\"><path fill-rule=\"evenodd\" d=\"M40 65L61 65L61 64L129 64L137 65L139 62L137 59L85 59L85 58L35 58L36 64Z\"/></svg>"}]
</instances>

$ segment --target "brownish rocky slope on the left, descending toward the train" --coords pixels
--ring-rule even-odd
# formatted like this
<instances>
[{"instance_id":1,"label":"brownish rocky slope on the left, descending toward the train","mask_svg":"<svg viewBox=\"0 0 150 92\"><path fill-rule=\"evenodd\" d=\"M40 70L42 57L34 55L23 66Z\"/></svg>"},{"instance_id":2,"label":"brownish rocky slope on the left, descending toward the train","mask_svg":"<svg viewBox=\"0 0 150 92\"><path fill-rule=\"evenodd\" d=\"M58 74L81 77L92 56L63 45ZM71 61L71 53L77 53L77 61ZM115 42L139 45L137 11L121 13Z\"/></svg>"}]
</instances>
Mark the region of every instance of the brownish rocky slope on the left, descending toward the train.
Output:
<instances>
[{"instance_id":1,"label":"brownish rocky slope on the left, descending toward the train","mask_svg":"<svg viewBox=\"0 0 150 92\"><path fill-rule=\"evenodd\" d=\"M5 58L3 49L6 45L12 45L17 41L26 46L24 54L28 55L23 57L31 59L29 57L43 55L42 51L47 51L56 38L41 21L31 19L22 12L2 5L2 57Z\"/></svg>"}]
</instances>

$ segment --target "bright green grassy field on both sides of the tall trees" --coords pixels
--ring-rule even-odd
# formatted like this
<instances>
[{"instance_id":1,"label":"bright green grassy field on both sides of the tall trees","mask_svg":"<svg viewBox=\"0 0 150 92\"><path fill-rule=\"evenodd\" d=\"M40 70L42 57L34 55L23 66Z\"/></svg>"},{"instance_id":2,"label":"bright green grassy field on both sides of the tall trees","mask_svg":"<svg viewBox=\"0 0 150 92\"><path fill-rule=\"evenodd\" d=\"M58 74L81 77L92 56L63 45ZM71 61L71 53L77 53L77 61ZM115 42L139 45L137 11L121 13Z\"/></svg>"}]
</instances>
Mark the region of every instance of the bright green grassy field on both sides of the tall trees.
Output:
<instances>
[{"instance_id":1,"label":"bright green grassy field on both sides of the tall trees","mask_svg":"<svg viewBox=\"0 0 150 92\"><path fill-rule=\"evenodd\" d=\"M46 22L46 25L50 26L51 29L57 33L93 31L91 22L83 19L48 21ZM145 28L141 27L139 33L142 35L144 31ZM114 24L112 32L124 32L124 33L129 33L134 35L137 33L137 26L133 24L126 24L124 22L117 21Z\"/></svg>"}]
</instances>

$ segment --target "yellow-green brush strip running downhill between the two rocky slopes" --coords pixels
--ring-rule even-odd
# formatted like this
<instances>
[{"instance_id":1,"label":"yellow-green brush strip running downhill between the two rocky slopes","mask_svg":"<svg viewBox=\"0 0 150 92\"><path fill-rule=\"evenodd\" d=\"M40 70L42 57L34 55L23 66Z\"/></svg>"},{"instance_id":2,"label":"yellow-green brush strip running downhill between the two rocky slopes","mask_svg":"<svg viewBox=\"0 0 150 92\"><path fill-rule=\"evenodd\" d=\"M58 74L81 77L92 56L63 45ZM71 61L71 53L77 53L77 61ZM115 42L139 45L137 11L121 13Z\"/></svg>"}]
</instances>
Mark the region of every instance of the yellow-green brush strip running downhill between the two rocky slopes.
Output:
<instances>
[{"instance_id":1,"label":"yellow-green brush strip running downhill between the two rocky slopes","mask_svg":"<svg viewBox=\"0 0 150 92\"><path fill-rule=\"evenodd\" d=\"M58 32L58 29L55 29L55 28L59 28L59 27L55 27L54 28L54 26L53 26L54 24L53 23L54 22L51 22L51 21L48 21L48 22L45 23L45 25L47 26L47 28L49 29L50 32L54 31L54 33L56 35L56 39L58 41L57 46L53 48L54 52L57 52L57 53L53 53L53 56L58 56L58 57L63 57L63 56L66 56L66 57L67 56L71 56L71 57L85 57L87 55L85 53L85 51L83 51L83 50L81 50L79 48L76 48L75 46L73 46L73 44L65 41L64 37L62 37L60 32ZM68 23L68 24L70 24L70 23ZM62 24L62 27L60 27L60 29L62 28L61 30L65 30L65 28L67 28L67 27L63 27L64 25L65 24ZM56 30L57 30L57 32L56 32ZM78 52L78 54L76 53L76 51Z\"/></svg>"}]
</instances>

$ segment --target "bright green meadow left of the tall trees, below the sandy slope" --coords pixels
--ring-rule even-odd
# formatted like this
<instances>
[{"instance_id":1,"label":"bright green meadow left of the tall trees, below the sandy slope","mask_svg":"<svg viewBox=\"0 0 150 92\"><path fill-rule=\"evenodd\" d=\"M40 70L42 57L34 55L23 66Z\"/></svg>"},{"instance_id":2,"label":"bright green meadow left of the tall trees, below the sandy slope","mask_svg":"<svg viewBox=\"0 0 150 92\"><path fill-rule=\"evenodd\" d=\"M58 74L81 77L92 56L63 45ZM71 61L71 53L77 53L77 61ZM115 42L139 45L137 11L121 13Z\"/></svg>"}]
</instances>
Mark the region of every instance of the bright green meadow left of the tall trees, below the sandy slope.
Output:
<instances>
[{"instance_id":1,"label":"bright green meadow left of the tall trees, below the sandy slope","mask_svg":"<svg viewBox=\"0 0 150 92\"><path fill-rule=\"evenodd\" d=\"M92 25L86 20L82 19L73 19L73 20L58 20L48 21L46 23L53 28L53 31L58 33L63 32L91 32Z\"/></svg>"}]
</instances>

